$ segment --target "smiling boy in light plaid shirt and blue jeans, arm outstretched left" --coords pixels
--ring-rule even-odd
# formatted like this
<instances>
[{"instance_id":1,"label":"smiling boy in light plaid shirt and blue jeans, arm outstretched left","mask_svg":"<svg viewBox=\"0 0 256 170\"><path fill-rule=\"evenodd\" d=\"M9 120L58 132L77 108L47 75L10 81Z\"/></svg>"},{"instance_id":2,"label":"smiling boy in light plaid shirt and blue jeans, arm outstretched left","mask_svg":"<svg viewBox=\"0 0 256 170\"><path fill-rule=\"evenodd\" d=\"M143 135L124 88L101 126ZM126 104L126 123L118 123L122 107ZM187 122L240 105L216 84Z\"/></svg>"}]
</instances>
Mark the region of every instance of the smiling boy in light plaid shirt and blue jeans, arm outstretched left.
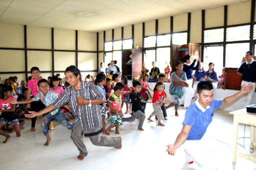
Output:
<instances>
[{"instance_id":1,"label":"smiling boy in light plaid shirt and blue jeans, arm outstretched left","mask_svg":"<svg viewBox=\"0 0 256 170\"><path fill-rule=\"evenodd\" d=\"M52 91L49 91L49 85L48 85L47 80L41 79L37 82L37 84L38 84L38 89L39 89L40 93L35 95L32 99L19 101L19 102L15 101L15 100L10 100L9 103L10 104L25 104L25 103L31 103L33 101L41 100L45 106L49 106L50 104L52 104L53 102L56 101L56 99L58 98L58 95ZM44 146L48 146L51 141L50 136L48 134L48 125L49 125L50 121L52 121L53 119L56 120L57 122L59 122L62 126L66 127L67 129L73 128L73 126L71 124L66 122L64 115L60 111L60 109L55 109L55 110L51 111L50 113L44 115L44 117L42 119L42 124L41 124L41 129L42 129L43 135L46 136L46 138L47 138L47 141L44 144Z\"/></svg>"}]
</instances>

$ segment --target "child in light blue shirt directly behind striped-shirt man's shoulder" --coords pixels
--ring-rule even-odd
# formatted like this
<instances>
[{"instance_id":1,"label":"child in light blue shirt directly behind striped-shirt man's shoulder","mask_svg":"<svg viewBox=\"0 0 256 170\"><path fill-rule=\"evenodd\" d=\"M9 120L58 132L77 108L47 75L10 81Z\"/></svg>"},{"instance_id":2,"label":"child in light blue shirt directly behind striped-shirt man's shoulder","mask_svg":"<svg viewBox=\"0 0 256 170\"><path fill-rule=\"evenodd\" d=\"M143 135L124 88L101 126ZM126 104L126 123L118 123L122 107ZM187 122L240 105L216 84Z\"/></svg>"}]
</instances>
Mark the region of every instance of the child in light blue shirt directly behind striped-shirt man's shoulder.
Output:
<instances>
[{"instance_id":1,"label":"child in light blue shirt directly behind striped-shirt man's shoulder","mask_svg":"<svg viewBox=\"0 0 256 170\"><path fill-rule=\"evenodd\" d=\"M106 83L106 76L102 73L97 74L95 84L97 85L97 88L99 89L99 91L106 97L106 92L103 87L103 84L105 83ZM106 129L105 129L105 103L102 103L99 106L100 106L99 108L101 110L101 117L102 117L102 130L103 130L102 133L105 135L110 135L108 132L106 132Z\"/></svg>"}]
</instances>

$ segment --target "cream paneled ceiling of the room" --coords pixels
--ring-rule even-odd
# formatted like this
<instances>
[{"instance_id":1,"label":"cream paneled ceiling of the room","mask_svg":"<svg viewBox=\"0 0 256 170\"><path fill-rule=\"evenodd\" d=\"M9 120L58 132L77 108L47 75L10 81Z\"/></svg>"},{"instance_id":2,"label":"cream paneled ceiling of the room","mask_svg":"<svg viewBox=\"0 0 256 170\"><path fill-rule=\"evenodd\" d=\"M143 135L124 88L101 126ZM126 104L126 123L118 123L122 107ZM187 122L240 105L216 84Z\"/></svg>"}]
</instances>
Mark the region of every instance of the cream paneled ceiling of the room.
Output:
<instances>
[{"instance_id":1,"label":"cream paneled ceiling of the room","mask_svg":"<svg viewBox=\"0 0 256 170\"><path fill-rule=\"evenodd\" d=\"M248 0L0 0L0 22L99 32Z\"/></svg>"}]
</instances>

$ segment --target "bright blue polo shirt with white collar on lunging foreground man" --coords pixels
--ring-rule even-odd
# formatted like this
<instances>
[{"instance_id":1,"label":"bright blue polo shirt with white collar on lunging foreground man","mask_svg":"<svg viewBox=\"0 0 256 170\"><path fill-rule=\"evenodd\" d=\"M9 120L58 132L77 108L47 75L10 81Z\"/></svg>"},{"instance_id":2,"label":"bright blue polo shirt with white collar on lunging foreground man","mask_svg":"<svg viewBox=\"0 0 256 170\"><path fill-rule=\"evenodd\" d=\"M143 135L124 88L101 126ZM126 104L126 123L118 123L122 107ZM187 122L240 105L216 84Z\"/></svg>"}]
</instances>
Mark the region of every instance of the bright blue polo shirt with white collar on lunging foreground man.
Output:
<instances>
[{"instance_id":1,"label":"bright blue polo shirt with white collar on lunging foreground man","mask_svg":"<svg viewBox=\"0 0 256 170\"><path fill-rule=\"evenodd\" d=\"M200 140L206 132L213 117L213 110L222 105L222 100L213 99L211 104L204 109L198 100L191 104L185 113L182 125L189 125L191 130L186 140Z\"/></svg>"}]
</instances>

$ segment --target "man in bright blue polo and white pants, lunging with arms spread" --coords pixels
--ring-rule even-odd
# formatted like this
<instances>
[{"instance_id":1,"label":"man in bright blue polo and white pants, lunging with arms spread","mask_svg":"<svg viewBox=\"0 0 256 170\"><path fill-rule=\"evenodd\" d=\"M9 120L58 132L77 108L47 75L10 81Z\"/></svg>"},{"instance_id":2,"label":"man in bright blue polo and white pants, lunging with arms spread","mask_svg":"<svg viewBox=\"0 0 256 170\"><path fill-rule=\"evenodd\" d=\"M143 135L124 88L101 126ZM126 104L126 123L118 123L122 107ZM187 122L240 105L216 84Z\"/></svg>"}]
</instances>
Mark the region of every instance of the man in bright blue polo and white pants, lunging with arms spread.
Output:
<instances>
[{"instance_id":1,"label":"man in bright blue polo and white pants, lunging with arms spread","mask_svg":"<svg viewBox=\"0 0 256 170\"><path fill-rule=\"evenodd\" d=\"M201 81L197 85L198 98L185 113L183 128L173 145L167 145L168 154L174 155L176 149L183 144L186 162L200 167L200 170L215 170L217 164L229 151L230 147L213 138L203 137L213 117L213 109L232 103L242 94L252 89L252 84L242 86L236 94L222 100L213 99L213 86L209 81Z\"/></svg>"}]
</instances>

